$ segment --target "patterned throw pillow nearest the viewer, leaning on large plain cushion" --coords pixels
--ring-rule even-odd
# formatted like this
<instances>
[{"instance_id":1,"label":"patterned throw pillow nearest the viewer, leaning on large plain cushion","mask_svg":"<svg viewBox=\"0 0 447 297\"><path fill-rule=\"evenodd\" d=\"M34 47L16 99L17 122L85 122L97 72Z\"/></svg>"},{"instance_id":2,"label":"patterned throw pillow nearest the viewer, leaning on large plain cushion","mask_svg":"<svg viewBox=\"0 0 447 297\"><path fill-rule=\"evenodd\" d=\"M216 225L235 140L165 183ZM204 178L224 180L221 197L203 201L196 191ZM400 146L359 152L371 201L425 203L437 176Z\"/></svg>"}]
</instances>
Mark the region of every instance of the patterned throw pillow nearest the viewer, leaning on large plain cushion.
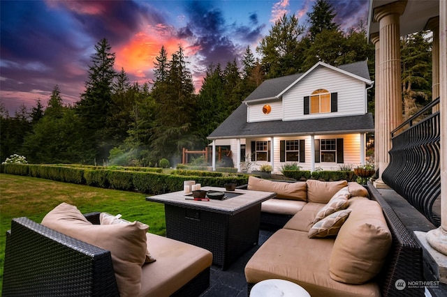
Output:
<instances>
[{"instance_id":1,"label":"patterned throw pillow nearest the viewer, leaning on large plain cushion","mask_svg":"<svg viewBox=\"0 0 447 297\"><path fill-rule=\"evenodd\" d=\"M324 238L328 236L336 236L344 221L349 217L351 209L344 209L328 215L323 220L319 220L312 226L307 234L309 238Z\"/></svg>"}]
</instances>

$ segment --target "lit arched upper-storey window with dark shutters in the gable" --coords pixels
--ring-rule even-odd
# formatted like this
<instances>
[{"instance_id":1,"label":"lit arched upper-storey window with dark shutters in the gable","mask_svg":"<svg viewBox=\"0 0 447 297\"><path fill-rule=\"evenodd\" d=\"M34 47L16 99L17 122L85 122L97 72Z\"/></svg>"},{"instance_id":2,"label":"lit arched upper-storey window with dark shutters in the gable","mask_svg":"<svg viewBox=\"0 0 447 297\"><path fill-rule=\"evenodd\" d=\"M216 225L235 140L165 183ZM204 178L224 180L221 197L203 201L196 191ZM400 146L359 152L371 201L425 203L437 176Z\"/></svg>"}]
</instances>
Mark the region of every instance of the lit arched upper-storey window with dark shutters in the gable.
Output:
<instances>
[{"instance_id":1,"label":"lit arched upper-storey window with dark shutters in the gable","mask_svg":"<svg viewBox=\"0 0 447 297\"><path fill-rule=\"evenodd\" d=\"M337 93L317 89L304 98L304 114L325 114L337 112Z\"/></svg>"}]
</instances>

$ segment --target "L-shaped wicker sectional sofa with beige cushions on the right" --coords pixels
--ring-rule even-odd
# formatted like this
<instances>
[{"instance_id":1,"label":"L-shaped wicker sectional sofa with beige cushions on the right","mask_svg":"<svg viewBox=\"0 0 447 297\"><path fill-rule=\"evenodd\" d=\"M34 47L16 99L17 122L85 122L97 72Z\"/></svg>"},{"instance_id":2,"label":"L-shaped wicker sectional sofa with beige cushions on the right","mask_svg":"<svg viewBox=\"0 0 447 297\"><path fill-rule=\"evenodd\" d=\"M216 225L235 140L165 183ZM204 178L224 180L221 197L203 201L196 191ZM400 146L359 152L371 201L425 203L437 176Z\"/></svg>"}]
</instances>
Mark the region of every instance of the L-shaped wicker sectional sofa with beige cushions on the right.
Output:
<instances>
[{"instance_id":1,"label":"L-shaped wicker sectional sofa with beige cushions on the right","mask_svg":"<svg viewBox=\"0 0 447 297\"><path fill-rule=\"evenodd\" d=\"M264 218L273 214L276 222L281 215L286 220L248 261L249 290L274 278L300 284L311 296L423 295L420 288L403 292L395 286L398 280L423 279L422 252L374 188L251 177L247 188L277 192L277 198L264 202ZM328 211L342 192L349 192L347 202Z\"/></svg>"}]
</instances>

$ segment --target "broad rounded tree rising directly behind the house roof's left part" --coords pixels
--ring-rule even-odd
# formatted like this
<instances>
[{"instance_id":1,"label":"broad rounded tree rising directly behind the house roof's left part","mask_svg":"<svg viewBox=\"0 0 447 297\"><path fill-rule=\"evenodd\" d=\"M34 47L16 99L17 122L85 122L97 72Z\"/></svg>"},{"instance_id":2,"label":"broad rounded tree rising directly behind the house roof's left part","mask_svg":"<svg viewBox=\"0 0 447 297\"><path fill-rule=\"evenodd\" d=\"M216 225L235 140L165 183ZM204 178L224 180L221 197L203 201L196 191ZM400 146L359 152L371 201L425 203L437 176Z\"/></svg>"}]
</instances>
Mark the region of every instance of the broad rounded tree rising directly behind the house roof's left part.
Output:
<instances>
[{"instance_id":1,"label":"broad rounded tree rising directly behind the house roof's left part","mask_svg":"<svg viewBox=\"0 0 447 297\"><path fill-rule=\"evenodd\" d=\"M262 56L262 66L267 78L297 73L301 65L299 36L304 27L298 24L298 17L285 14L270 29L268 36L261 40L256 52Z\"/></svg>"}]
</instances>

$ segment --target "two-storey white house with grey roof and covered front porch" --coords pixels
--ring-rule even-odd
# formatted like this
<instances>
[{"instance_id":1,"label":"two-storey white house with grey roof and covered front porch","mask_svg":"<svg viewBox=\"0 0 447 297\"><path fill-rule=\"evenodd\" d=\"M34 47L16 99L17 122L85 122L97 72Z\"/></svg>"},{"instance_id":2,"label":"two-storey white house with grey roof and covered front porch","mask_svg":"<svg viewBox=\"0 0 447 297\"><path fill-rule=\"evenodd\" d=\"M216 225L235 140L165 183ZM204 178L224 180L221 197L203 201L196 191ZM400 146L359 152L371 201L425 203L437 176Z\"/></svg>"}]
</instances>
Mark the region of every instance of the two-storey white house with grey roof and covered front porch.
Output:
<instances>
[{"instance_id":1,"label":"two-storey white house with grey roof and covered front porch","mask_svg":"<svg viewBox=\"0 0 447 297\"><path fill-rule=\"evenodd\" d=\"M366 133L374 132L367 113L372 84L366 61L318 62L306 73L265 80L207 137L213 155L225 139L238 172L245 155L275 173L291 162L311 171L364 164Z\"/></svg>"}]
</instances>

